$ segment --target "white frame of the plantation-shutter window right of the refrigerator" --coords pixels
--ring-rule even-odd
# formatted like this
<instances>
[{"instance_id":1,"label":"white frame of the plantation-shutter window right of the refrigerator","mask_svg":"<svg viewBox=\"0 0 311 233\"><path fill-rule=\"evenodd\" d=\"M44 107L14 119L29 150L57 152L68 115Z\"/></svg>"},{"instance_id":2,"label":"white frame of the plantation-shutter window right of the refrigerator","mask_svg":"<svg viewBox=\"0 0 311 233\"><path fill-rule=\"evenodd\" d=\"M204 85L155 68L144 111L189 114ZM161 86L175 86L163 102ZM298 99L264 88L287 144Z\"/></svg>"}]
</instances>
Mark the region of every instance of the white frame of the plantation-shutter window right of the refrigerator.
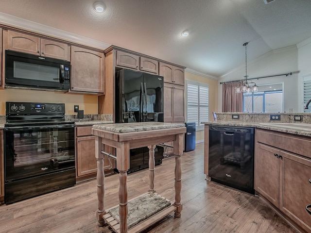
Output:
<instances>
[{"instance_id":1,"label":"white frame of the plantation-shutter window right of the refrigerator","mask_svg":"<svg viewBox=\"0 0 311 233\"><path fill-rule=\"evenodd\" d=\"M188 122L188 85L196 85L198 86L198 89L200 89L200 87L205 87L207 88L207 105L203 104L200 105L200 98L198 99L197 102L197 108L198 108L198 123L195 123L195 129L196 131L201 131L204 130L204 124L201 124L201 122L208 122L209 119L209 84L208 83L202 83L202 82L197 82L197 81L193 81L193 80L186 80L186 122ZM198 91L200 93L200 90ZM199 94L200 96L200 94ZM195 106L194 104L191 104L191 106ZM207 119L200 119L200 107L207 107Z\"/></svg>"}]
</instances>

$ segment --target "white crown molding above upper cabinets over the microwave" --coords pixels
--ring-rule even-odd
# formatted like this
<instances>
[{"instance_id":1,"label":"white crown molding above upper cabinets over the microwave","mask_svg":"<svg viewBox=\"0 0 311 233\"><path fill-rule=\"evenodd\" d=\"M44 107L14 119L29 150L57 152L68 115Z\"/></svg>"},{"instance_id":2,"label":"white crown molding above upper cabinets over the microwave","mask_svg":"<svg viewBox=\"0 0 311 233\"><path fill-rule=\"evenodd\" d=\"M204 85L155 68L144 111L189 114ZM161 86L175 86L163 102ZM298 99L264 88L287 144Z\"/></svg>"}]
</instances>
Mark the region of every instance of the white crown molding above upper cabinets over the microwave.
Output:
<instances>
[{"instance_id":1,"label":"white crown molding above upper cabinets over the microwave","mask_svg":"<svg viewBox=\"0 0 311 233\"><path fill-rule=\"evenodd\" d=\"M51 37L57 37L73 43L86 45L88 47L95 47L101 50L105 50L111 46L111 44L107 44L103 41L94 40L75 33L69 33L57 28L46 26L20 17L11 16L2 12L0 12L0 23L35 33L49 35Z\"/></svg>"}]
</instances>

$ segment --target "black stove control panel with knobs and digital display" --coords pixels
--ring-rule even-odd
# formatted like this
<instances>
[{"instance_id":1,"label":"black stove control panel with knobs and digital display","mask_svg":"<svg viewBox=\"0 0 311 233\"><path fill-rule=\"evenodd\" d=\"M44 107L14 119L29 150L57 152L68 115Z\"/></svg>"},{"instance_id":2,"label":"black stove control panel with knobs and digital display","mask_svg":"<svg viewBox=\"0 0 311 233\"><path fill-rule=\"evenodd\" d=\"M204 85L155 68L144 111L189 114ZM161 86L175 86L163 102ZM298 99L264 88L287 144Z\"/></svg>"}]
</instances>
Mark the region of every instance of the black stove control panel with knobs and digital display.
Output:
<instances>
[{"instance_id":1,"label":"black stove control panel with knobs and digital display","mask_svg":"<svg viewBox=\"0 0 311 233\"><path fill-rule=\"evenodd\" d=\"M6 115L65 114L65 103L6 102Z\"/></svg>"}]
</instances>

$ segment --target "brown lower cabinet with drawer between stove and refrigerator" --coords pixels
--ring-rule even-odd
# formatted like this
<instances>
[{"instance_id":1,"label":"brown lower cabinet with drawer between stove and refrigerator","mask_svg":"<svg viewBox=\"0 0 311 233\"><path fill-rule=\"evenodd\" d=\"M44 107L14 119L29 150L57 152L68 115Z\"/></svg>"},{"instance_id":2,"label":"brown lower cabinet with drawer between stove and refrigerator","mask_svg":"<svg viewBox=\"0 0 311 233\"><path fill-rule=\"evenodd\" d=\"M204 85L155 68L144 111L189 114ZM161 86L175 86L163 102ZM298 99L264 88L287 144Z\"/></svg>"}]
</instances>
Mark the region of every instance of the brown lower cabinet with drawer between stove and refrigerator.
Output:
<instances>
[{"instance_id":1,"label":"brown lower cabinet with drawer between stove and refrigerator","mask_svg":"<svg viewBox=\"0 0 311 233\"><path fill-rule=\"evenodd\" d=\"M92 126L77 126L75 129L75 135L77 180L95 177L97 173L97 160L95 158L95 136L92 135ZM114 168L114 160L109 160L108 157L105 156L105 172L113 172Z\"/></svg>"}]
</instances>

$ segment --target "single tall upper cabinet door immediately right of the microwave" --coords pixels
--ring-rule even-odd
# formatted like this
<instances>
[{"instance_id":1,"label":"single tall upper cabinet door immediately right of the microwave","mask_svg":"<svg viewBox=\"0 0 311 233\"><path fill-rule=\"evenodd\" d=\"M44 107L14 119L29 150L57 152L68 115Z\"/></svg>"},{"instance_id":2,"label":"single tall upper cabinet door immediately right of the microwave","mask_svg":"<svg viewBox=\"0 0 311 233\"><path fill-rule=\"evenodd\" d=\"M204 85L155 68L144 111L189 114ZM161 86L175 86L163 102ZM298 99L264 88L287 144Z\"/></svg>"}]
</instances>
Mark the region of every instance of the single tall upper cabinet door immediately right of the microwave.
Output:
<instances>
[{"instance_id":1,"label":"single tall upper cabinet door immediately right of the microwave","mask_svg":"<svg viewBox=\"0 0 311 233\"><path fill-rule=\"evenodd\" d=\"M71 46L71 90L104 93L104 53Z\"/></svg>"}]
</instances>

